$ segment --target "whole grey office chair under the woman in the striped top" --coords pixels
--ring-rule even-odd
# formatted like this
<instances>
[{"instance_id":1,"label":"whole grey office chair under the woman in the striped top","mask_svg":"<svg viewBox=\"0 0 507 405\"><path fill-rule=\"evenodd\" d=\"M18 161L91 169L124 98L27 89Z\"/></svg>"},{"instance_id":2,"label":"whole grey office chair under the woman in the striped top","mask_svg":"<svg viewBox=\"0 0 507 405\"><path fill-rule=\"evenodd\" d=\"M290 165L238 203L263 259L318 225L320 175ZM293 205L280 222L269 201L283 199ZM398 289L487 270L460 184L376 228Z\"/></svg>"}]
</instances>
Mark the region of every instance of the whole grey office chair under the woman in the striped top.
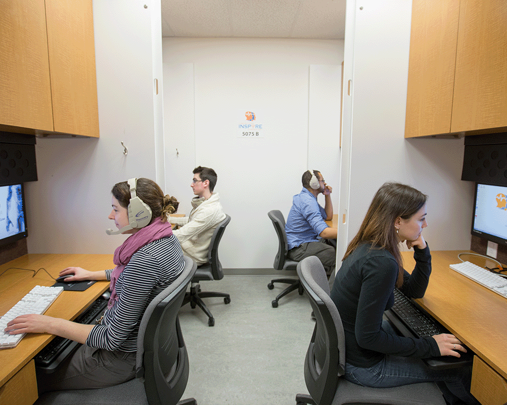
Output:
<instances>
[{"instance_id":1,"label":"whole grey office chair under the woman in the striped top","mask_svg":"<svg viewBox=\"0 0 507 405\"><path fill-rule=\"evenodd\" d=\"M185 257L185 268L157 295L144 312L137 336L136 378L113 387L46 392L37 405L197 405L182 397L189 376L187 348L178 311L196 264Z\"/></svg>"}]
</instances>

